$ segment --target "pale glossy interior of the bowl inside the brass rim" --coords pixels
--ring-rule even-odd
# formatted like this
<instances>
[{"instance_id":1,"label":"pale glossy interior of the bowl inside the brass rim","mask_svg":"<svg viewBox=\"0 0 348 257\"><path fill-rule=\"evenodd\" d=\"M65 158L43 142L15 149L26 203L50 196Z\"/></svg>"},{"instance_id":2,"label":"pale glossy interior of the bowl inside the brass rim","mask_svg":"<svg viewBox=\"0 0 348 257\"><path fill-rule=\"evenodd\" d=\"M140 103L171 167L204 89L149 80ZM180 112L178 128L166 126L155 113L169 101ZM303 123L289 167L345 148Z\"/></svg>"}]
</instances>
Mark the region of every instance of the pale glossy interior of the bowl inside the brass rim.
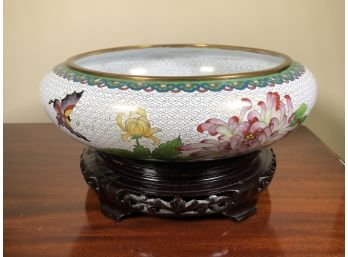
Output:
<instances>
[{"instance_id":1,"label":"pale glossy interior of the bowl inside the brass rim","mask_svg":"<svg viewBox=\"0 0 348 257\"><path fill-rule=\"evenodd\" d=\"M248 48L153 46L110 49L81 55L74 65L84 69L135 76L214 76L274 69L285 57Z\"/></svg>"}]
</instances>

